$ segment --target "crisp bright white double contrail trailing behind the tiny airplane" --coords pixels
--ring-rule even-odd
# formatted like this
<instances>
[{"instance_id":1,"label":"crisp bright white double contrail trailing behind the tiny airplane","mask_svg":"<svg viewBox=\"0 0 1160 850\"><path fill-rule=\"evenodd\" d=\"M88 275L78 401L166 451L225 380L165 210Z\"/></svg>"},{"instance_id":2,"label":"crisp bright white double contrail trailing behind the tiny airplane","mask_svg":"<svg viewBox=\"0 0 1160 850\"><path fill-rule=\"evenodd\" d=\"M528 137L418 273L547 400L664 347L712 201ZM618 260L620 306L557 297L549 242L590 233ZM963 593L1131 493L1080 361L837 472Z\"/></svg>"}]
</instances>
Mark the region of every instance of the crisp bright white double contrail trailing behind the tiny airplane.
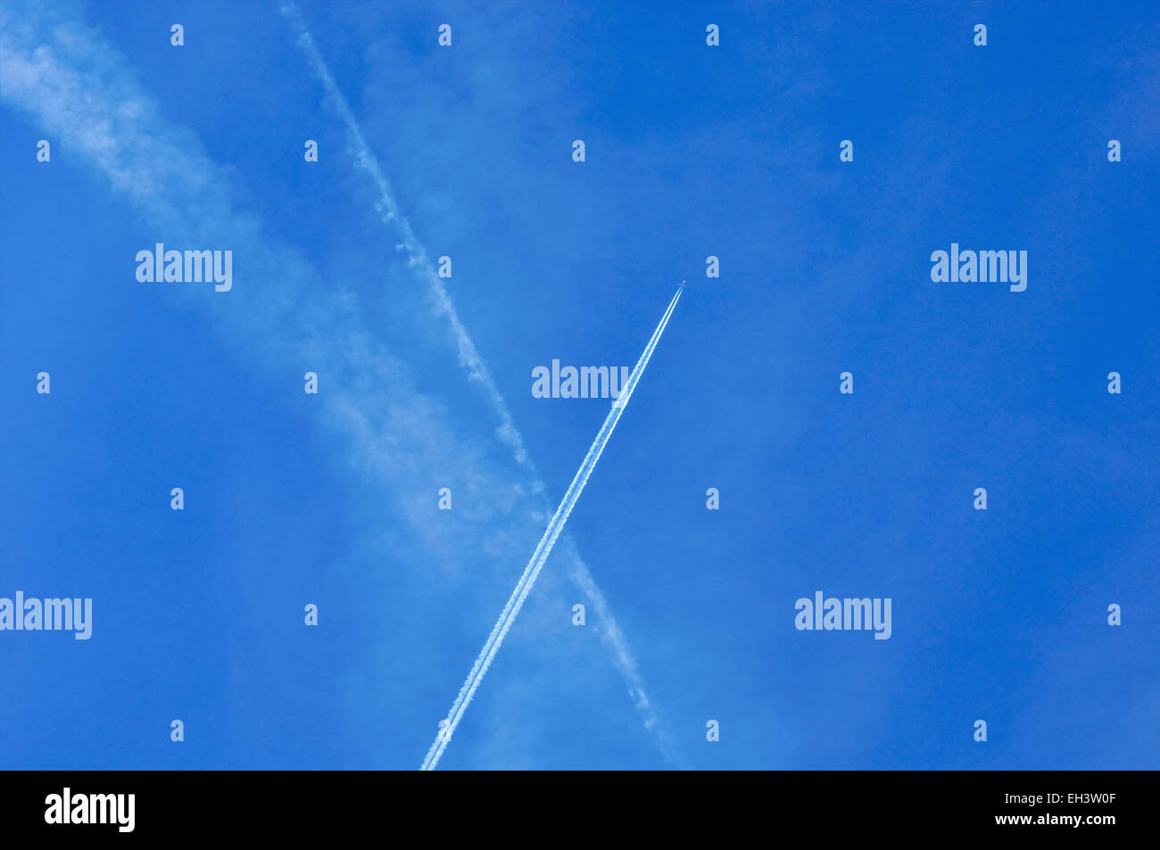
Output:
<instances>
[{"instance_id":1,"label":"crisp bright white double contrail trailing behind the tiny airplane","mask_svg":"<svg viewBox=\"0 0 1160 850\"><path fill-rule=\"evenodd\" d=\"M544 561L546 561L548 555L552 553L552 547L556 545L556 540L560 536L560 531L564 530L564 524L568 521L568 515L572 513L572 508L575 507L577 500L580 499L580 494L583 492L585 485L588 484L588 477L592 475L592 471L596 467L596 462L600 460L601 452L604 451L604 446L608 444L609 437L612 436L612 430L616 428L616 423L619 421L621 414L624 413L624 408L628 407L629 399L632 398L632 391L636 390L637 382L640 380L640 376L644 373L645 366L648 365L648 359L652 357L653 349L657 348L657 343L660 341L660 335L665 333L665 326L668 325L668 318L673 314L673 308L676 307L676 303L680 300L681 292L683 291L683 286L676 290L676 295L674 295L673 300L669 302L668 310L666 310L665 315L661 317L660 324L653 332L652 339L650 339L648 344L645 346L644 354L640 355L640 359L637 361L637 365L632 369L628 384L625 384L619 397L612 402L612 409L609 411L608 416L604 419L604 424L601 427L600 433L596 434L596 438L588 449L588 453L585 455L583 462L580 464L580 468L577 470L577 474L572 479L572 484L568 486L567 493L564 494L564 499L560 501L560 507L556 509L556 515L552 517L552 521L548 523L548 529L544 531L544 536L539 539L539 545L536 546L536 551L532 553L531 560L528 561L528 566L524 568L523 575L516 583L515 590L512 591L512 597L508 600L508 604L505 605L503 612L500 615L499 620L496 620L495 627L492 629L492 634L484 645L483 652L479 654L479 658L476 659L476 663L472 666L471 673L467 674L467 678L463 683L463 688L459 689L459 696L456 697L455 703L451 706L451 712L448 715L447 727L440 729L440 734L435 736L435 742L427 751L427 757L423 760L423 764L420 770L434 770L435 765L438 764L438 760L443 755L443 750L447 749L447 744L451 740L451 735L455 732L456 726L459 725L459 720L463 718L463 713L467 710L471 698L476 695L479 683L487 674L487 668L491 667L492 660L495 658L495 653L498 653L500 646L502 646L503 638L507 637L508 630L512 627L516 616L520 613L520 609L523 606L523 601L528 598L528 594L536 583L536 577L539 575L539 571L543 568Z\"/></svg>"}]
</instances>

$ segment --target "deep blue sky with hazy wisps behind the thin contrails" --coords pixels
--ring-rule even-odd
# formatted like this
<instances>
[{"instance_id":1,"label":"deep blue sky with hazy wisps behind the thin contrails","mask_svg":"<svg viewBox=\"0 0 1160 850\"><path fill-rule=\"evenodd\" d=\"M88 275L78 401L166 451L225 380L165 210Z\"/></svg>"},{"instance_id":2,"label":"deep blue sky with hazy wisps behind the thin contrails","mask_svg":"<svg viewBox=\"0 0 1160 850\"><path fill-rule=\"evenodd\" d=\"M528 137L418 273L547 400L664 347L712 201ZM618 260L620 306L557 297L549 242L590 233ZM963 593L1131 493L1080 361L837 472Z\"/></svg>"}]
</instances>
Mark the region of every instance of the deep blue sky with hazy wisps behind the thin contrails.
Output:
<instances>
[{"instance_id":1,"label":"deep blue sky with hazy wisps behind the thin contrails","mask_svg":"<svg viewBox=\"0 0 1160 850\"><path fill-rule=\"evenodd\" d=\"M631 365L682 279L440 767L1158 765L1147 3L303 3L498 395L276 2L0 16L0 596L94 601L0 632L0 767L418 767L608 412L531 370Z\"/></svg>"}]
</instances>

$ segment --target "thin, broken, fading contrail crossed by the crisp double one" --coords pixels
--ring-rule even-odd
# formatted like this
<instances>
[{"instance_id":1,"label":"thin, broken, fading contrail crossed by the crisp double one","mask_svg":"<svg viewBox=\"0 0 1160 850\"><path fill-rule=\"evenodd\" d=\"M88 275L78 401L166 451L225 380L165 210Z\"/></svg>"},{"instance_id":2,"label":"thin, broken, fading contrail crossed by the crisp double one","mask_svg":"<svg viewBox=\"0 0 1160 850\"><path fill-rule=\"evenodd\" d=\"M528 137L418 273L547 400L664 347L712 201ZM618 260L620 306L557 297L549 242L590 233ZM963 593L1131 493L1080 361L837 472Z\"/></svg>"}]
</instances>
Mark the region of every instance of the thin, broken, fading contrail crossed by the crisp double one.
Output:
<instances>
[{"instance_id":1,"label":"thin, broken, fading contrail crossed by the crisp double one","mask_svg":"<svg viewBox=\"0 0 1160 850\"><path fill-rule=\"evenodd\" d=\"M539 473L536 471L535 464L528 457L528 452L523 445L523 437L520 434L520 429L516 428L515 421L512 419L512 414L503 400L503 395L492 380L492 376L487 370L487 364L484 362L479 350L476 348L474 342L472 342L466 328L459 320L459 315L451 302L451 296L443 286L443 282L440 279L435 268L432 266L430 260L427 256L427 252L415 238L414 231L412 231L411 224L407 221L406 217L400 212L399 205L391 191L391 184L383 175L378 160L376 160L374 153L371 153L370 147L367 144L367 139L358 126L358 122L355 121L350 104L347 102L347 99L343 96L341 89L339 89L333 74L331 74L329 67L326 65L318 46L314 44L314 39L306 29L306 24L302 19L298 7L292 2L292 0L288 0L282 3L281 10L293 24L295 31L298 36L298 45L303 49L303 51L305 51L306 58L310 60L311 67L318 75L319 80L321 80L322 88L329 96L334 110L346 125L348 144L355 162L360 168L370 175L371 181L378 189L379 202L376 204L376 210L378 211L379 217L383 219L384 224L399 228L399 232L403 235L403 241L398 247L406 253L407 261L411 267L415 269L416 273L426 281L438 312L447 315L448 321L451 325L451 333L459 350L459 363L466 368L471 379L483 387L485 395L495 409L500 420L500 426L496 429L498 436L512 449L516 463L528 471L531 479L532 491L543 500L543 504L546 510L550 504L544 494L544 482L541 479ZM527 574L528 573L525 571L524 575L521 576L520 584L523 583ZM632 655L632 651L629 648L628 639L624 637L624 633L612 618L611 612L609 612L608 602L604 600L604 595L601 593L600 587L593 580L592 574L588 572L587 565L578 554L572 558L570 577L592 601L600 620L600 624L596 627L601 637L612 648L614 663L628 683L629 693L632 696L637 709L645 715L645 728L657 733L661 755L664 755L670 763L677 767L683 767L684 757L680 754L672 741L668 740L655 709L645 695L644 682L641 681L640 674L637 669L637 662ZM520 584L516 584L516 588L519 588ZM514 604L515 598L515 595L513 595L512 598L508 600L508 608L503 609L505 615L509 612L509 606ZM487 638L487 644L484 645L485 653L499 634L498 626L499 624L496 624L496 630L493 631ZM483 656L484 654L480 654L480 658ZM463 696L464 692L461 692L461 697ZM456 700L457 704L459 700Z\"/></svg>"}]
</instances>

